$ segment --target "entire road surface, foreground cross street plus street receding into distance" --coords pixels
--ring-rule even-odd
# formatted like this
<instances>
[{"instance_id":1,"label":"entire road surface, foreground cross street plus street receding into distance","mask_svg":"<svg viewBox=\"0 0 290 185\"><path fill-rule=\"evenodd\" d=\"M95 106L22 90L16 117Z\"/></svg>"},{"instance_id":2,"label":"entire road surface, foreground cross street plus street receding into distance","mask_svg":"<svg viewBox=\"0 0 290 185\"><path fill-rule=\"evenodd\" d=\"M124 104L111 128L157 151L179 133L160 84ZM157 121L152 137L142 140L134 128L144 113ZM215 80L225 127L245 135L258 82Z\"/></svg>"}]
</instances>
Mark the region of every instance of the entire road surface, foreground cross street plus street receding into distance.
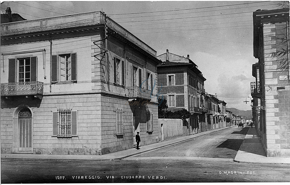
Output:
<instances>
[{"instance_id":1,"label":"entire road surface, foreground cross street plus street receding into distance","mask_svg":"<svg viewBox=\"0 0 290 185\"><path fill-rule=\"evenodd\" d=\"M228 128L124 160L1 159L1 183L289 182L289 164L233 162L246 133Z\"/></svg>"}]
</instances>

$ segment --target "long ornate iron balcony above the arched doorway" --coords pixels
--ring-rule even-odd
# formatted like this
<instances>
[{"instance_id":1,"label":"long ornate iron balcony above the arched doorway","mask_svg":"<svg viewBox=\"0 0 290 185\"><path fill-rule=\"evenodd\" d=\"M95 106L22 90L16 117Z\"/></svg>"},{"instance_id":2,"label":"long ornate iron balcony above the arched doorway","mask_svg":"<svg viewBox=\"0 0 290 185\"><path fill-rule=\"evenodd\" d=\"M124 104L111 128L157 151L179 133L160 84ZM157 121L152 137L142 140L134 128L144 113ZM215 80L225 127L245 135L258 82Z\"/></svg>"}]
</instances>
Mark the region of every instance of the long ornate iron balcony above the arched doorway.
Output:
<instances>
[{"instance_id":1,"label":"long ornate iron balcony above the arched doorway","mask_svg":"<svg viewBox=\"0 0 290 185\"><path fill-rule=\"evenodd\" d=\"M1 96L28 96L42 98L43 82L16 82L1 84Z\"/></svg>"}]
</instances>

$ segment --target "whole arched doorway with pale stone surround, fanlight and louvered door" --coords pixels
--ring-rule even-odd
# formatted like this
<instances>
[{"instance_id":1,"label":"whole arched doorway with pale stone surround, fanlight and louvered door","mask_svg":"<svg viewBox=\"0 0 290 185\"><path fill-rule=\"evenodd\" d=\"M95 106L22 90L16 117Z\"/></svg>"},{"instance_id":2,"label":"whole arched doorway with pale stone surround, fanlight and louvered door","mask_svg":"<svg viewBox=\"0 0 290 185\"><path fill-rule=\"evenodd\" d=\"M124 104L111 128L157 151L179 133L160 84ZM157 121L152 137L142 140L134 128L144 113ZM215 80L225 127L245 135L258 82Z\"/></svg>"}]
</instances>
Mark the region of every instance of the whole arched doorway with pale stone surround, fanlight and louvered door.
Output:
<instances>
[{"instance_id":1,"label":"whole arched doorway with pale stone surround, fanlight and louvered door","mask_svg":"<svg viewBox=\"0 0 290 185\"><path fill-rule=\"evenodd\" d=\"M19 106L14 111L12 152L33 153L33 116L30 108Z\"/></svg>"}]
</instances>

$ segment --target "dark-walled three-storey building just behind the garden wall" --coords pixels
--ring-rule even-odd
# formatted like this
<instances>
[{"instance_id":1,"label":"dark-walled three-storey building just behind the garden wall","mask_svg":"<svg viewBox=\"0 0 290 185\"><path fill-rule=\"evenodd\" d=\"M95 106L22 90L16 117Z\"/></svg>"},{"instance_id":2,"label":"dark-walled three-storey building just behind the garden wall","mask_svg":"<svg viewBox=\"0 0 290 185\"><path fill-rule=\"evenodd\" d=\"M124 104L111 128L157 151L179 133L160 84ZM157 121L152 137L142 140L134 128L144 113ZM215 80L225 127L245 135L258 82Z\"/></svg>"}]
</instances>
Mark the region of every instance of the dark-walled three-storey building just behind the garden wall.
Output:
<instances>
[{"instance_id":1,"label":"dark-walled three-storey building just behind the garden wall","mask_svg":"<svg viewBox=\"0 0 290 185\"><path fill-rule=\"evenodd\" d=\"M204 81L202 72L187 57L166 53L157 56L162 64L158 70L159 96L167 100L168 110L186 109L191 113L189 118L189 134L206 131L206 110L204 106Z\"/></svg>"}]
</instances>

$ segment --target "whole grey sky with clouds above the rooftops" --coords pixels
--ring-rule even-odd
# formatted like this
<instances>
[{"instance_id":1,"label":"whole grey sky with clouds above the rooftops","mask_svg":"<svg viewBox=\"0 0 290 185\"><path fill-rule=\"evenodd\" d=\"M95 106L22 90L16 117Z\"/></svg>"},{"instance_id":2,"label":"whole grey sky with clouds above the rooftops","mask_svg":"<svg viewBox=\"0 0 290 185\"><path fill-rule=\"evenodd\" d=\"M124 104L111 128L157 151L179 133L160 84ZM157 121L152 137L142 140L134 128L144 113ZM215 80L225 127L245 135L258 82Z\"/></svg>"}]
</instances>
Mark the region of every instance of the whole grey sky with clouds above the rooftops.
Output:
<instances>
[{"instance_id":1,"label":"whole grey sky with clouds above the rooftops","mask_svg":"<svg viewBox=\"0 0 290 185\"><path fill-rule=\"evenodd\" d=\"M227 108L251 110L253 12L280 8L281 1L1 1L27 20L103 11L157 56L187 56L206 78L209 94ZM117 15L118 14L118 15ZM250 98L247 98L250 100Z\"/></svg>"}]
</instances>

